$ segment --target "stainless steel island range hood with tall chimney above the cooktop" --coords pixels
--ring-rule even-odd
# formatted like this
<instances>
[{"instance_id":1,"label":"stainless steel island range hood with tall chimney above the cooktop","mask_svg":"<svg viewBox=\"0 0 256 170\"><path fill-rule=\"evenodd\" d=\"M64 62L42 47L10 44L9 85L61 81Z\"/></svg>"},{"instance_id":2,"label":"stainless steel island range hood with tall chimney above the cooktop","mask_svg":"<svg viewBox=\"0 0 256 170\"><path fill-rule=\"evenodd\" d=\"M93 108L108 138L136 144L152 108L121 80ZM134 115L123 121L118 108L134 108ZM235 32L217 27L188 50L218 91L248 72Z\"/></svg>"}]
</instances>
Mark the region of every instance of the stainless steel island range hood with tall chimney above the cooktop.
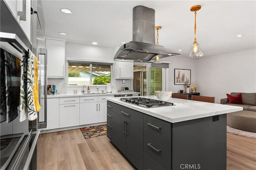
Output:
<instances>
[{"instance_id":1,"label":"stainless steel island range hood with tall chimney above the cooktop","mask_svg":"<svg viewBox=\"0 0 256 170\"><path fill-rule=\"evenodd\" d=\"M118 49L114 59L150 61L174 55L174 50L155 44L155 10L136 6L132 14L132 40Z\"/></svg>"}]
</instances>

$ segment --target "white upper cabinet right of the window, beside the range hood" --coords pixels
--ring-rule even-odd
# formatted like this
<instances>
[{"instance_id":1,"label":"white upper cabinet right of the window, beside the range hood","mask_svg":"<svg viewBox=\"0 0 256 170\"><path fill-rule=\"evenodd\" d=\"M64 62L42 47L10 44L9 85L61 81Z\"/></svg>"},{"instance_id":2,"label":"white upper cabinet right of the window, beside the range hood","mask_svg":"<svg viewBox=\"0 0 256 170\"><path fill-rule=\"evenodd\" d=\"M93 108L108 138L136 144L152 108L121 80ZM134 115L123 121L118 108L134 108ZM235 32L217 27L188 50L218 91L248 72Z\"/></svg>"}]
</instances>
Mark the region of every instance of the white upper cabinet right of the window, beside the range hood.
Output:
<instances>
[{"instance_id":1,"label":"white upper cabinet right of the window, beside the range hood","mask_svg":"<svg viewBox=\"0 0 256 170\"><path fill-rule=\"evenodd\" d=\"M133 79L133 61L115 61L116 79Z\"/></svg>"}]
</instances>

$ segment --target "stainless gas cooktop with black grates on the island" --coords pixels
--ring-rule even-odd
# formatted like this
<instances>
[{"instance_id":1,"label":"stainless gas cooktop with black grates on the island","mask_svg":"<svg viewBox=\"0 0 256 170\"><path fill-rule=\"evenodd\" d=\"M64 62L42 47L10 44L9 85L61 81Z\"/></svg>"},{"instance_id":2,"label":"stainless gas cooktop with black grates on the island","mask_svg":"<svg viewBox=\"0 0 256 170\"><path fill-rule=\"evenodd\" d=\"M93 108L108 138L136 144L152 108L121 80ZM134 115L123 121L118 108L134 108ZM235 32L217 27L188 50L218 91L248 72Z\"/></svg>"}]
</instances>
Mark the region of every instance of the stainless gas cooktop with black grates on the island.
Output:
<instances>
[{"instance_id":1,"label":"stainless gas cooktop with black grates on the island","mask_svg":"<svg viewBox=\"0 0 256 170\"><path fill-rule=\"evenodd\" d=\"M147 98L120 98L123 102L128 102L141 107L152 108L152 107L164 107L164 106L175 106L171 102L164 102L160 100L147 99Z\"/></svg>"}]
</instances>

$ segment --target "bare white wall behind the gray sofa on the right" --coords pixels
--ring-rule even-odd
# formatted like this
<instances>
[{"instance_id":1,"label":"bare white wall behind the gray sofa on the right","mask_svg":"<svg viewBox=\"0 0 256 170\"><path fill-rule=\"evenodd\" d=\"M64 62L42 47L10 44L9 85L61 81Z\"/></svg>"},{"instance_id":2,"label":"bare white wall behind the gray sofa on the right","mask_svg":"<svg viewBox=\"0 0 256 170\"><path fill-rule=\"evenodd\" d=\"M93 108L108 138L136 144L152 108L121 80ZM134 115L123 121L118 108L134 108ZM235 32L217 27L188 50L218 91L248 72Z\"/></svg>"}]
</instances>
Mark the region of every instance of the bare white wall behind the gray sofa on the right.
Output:
<instances>
[{"instance_id":1,"label":"bare white wall behind the gray sofa on the right","mask_svg":"<svg viewBox=\"0 0 256 170\"><path fill-rule=\"evenodd\" d=\"M196 86L215 103L231 92L256 92L256 49L198 58Z\"/></svg>"}]
</instances>

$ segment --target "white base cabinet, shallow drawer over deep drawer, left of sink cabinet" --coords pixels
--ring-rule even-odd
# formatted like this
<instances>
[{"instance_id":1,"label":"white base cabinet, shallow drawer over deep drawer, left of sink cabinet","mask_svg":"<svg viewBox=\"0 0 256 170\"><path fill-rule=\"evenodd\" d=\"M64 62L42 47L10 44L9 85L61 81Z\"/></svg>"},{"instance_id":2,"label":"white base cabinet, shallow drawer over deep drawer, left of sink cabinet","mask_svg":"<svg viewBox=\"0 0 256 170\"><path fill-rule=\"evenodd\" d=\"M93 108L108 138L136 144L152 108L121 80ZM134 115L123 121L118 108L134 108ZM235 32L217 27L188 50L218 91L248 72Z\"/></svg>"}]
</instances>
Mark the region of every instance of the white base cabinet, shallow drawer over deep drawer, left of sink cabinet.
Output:
<instances>
[{"instance_id":1,"label":"white base cabinet, shallow drawer over deep drawer, left of sink cabinet","mask_svg":"<svg viewBox=\"0 0 256 170\"><path fill-rule=\"evenodd\" d=\"M79 125L79 98L60 98L60 128Z\"/></svg>"}]
</instances>

